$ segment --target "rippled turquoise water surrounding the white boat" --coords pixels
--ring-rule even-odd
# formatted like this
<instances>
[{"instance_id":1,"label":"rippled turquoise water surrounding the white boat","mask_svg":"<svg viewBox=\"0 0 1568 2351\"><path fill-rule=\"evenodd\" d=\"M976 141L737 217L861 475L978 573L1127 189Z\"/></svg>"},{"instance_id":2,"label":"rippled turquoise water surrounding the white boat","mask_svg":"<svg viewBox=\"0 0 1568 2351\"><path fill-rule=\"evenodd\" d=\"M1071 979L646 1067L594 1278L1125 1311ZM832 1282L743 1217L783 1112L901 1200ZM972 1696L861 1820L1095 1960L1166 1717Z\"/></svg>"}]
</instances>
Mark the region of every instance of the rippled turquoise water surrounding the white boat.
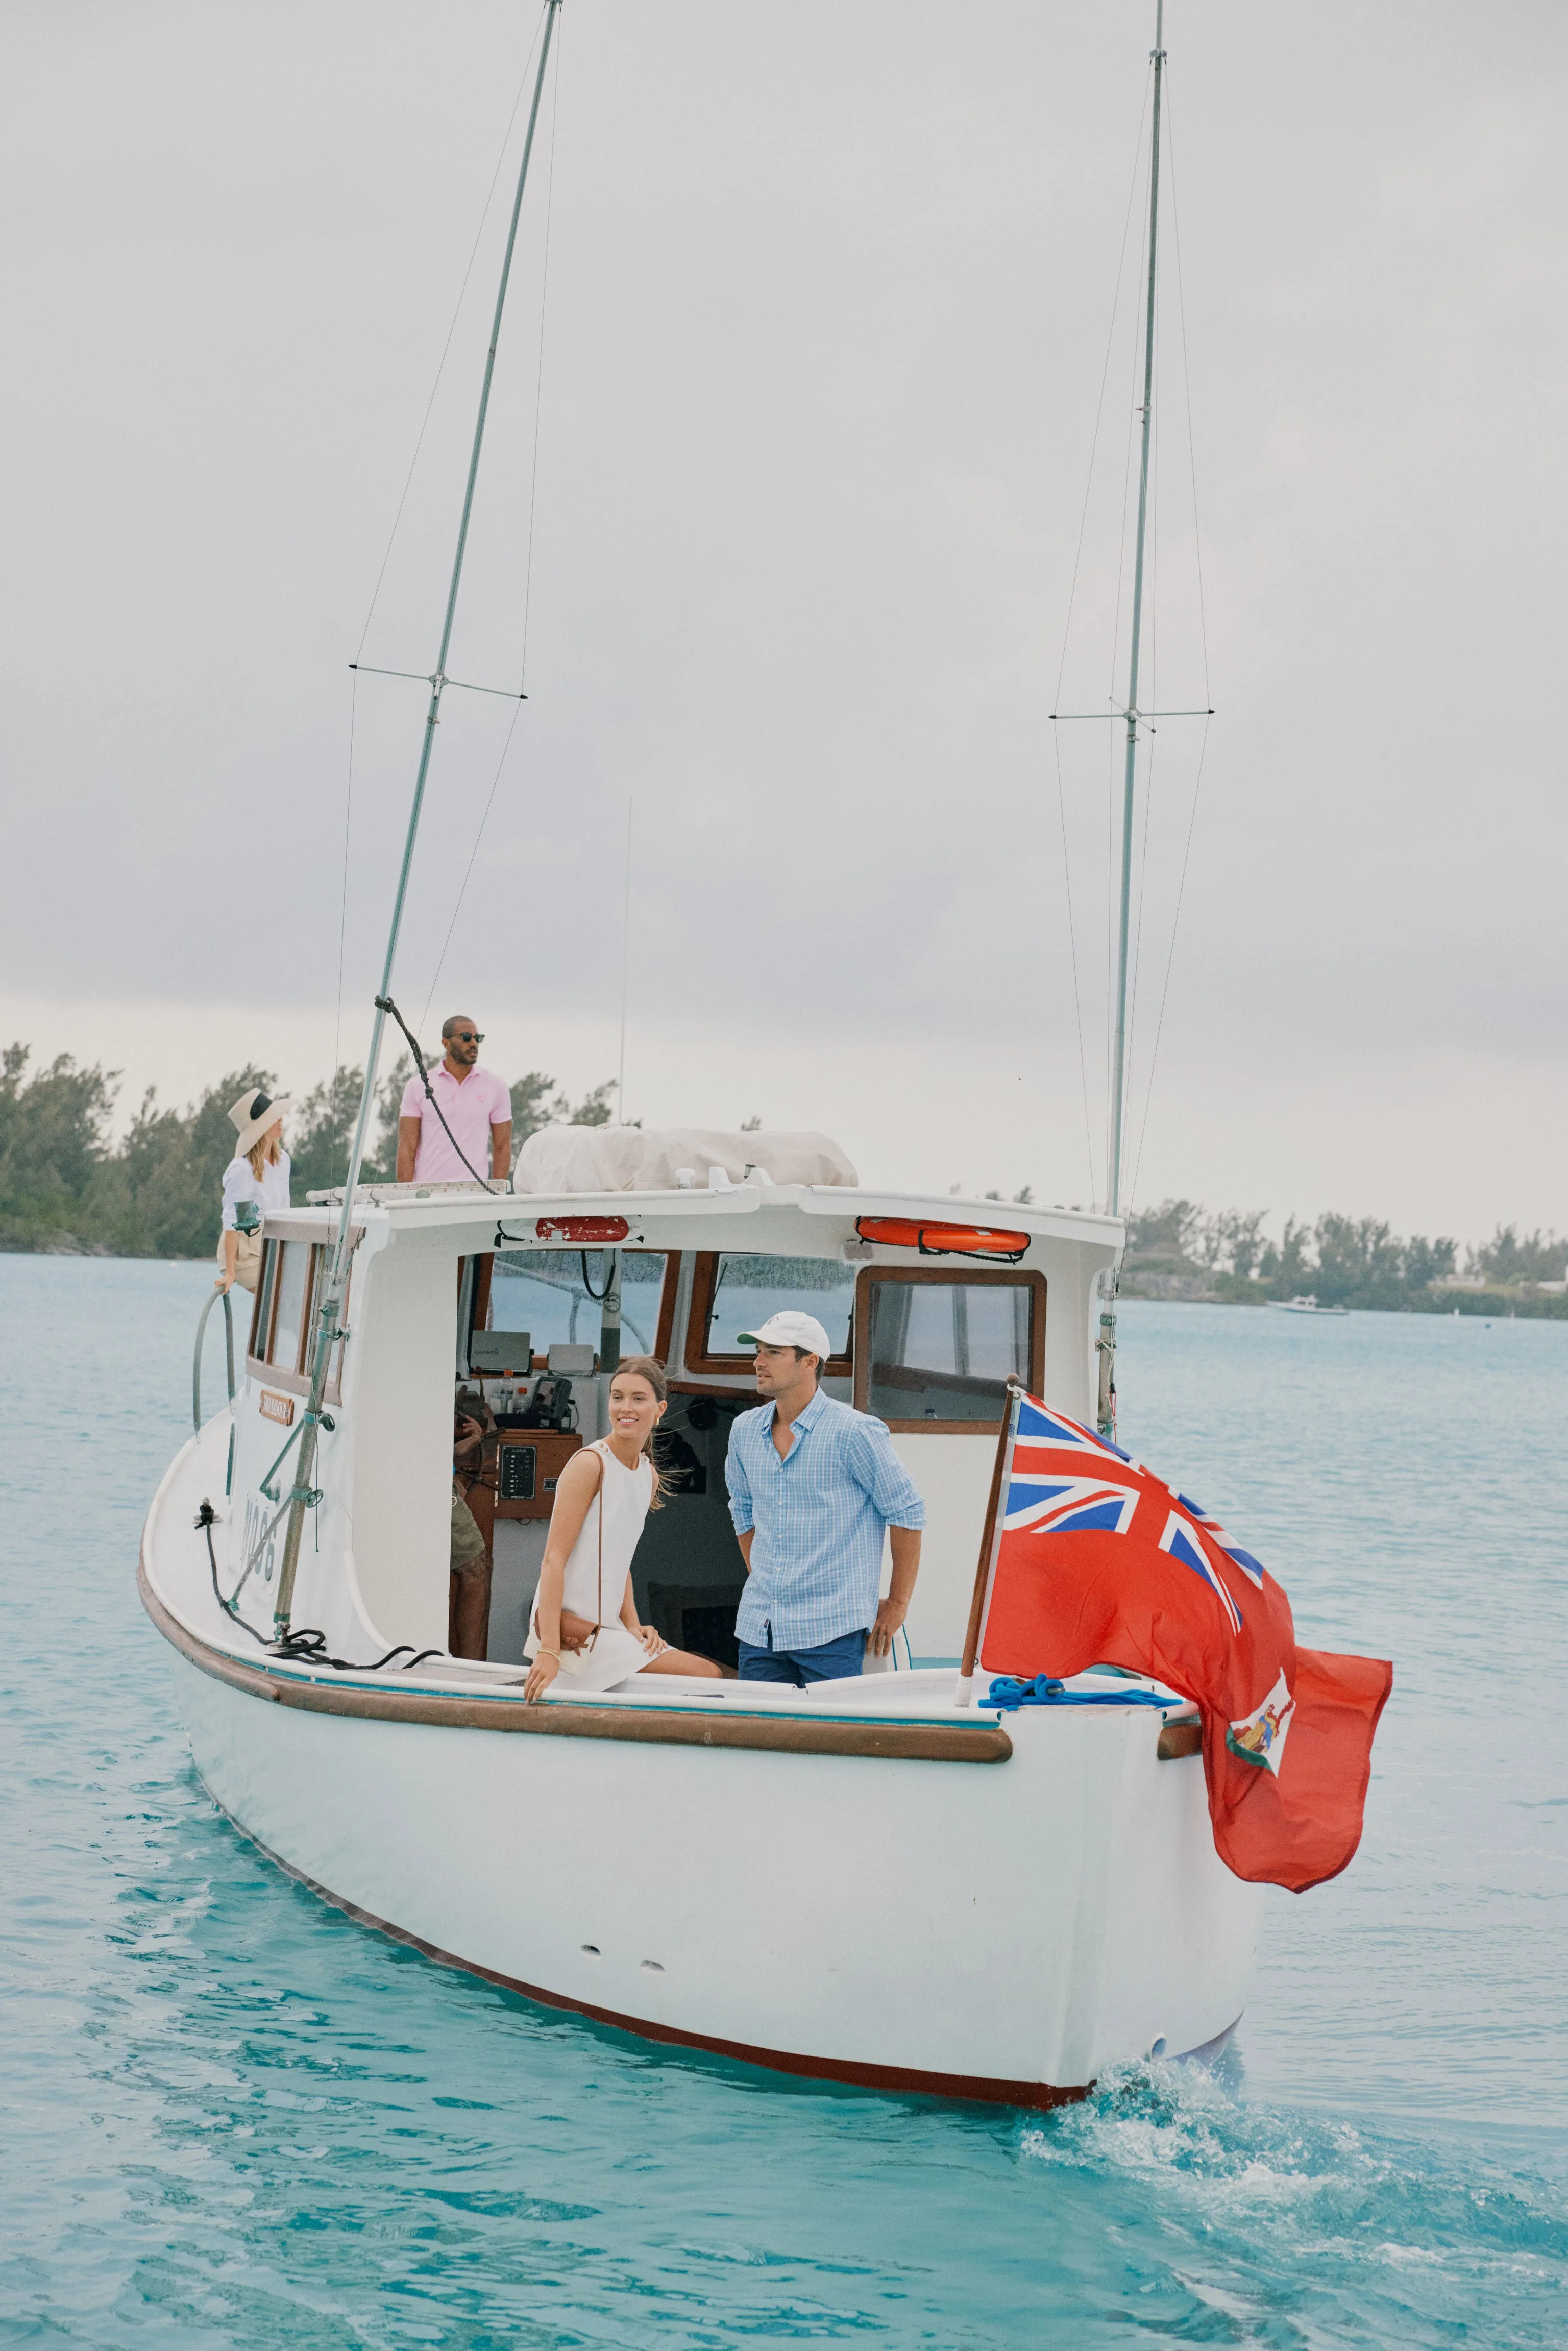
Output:
<instances>
[{"instance_id":1,"label":"rippled turquoise water surrounding the white boat","mask_svg":"<svg viewBox=\"0 0 1568 2351\"><path fill-rule=\"evenodd\" d=\"M1041 2121L531 2010L214 1815L134 1594L209 1279L0 1258L0 2346L1568 2344L1568 1324L1124 1312L1124 1439L1399 1679L1220 2074Z\"/></svg>"}]
</instances>

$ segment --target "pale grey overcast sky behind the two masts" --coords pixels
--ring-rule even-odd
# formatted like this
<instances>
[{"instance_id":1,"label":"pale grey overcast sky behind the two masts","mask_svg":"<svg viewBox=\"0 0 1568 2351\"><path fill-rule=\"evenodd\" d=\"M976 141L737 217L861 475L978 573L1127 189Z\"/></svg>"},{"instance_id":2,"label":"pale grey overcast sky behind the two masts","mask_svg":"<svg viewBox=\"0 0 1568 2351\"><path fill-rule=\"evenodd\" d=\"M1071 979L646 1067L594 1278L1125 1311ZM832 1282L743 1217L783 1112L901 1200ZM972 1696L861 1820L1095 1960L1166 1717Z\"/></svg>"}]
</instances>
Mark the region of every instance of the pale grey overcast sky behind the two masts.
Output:
<instances>
[{"instance_id":1,"label":"pale grey overcast sky behind the two masts","mask_svg":"<svg viewBox=\"0 0 1568 2351\"><path fill-rule=\"evenodd\" d=\"M534 5L12 0L0 1030L369 1034ZM395 994L1107 1185L1152 7L569 0ZM1166 7L1124 1197L1568 1225L1568 19ZM520 103L522 96L522 103ZM390 550L390 552L388 552ZM353 750L353 764L350 764ZM630 811L630 863L628 863ZM1178 919L1180 903L1180 919Z\"/></svg>"}]
</instances>

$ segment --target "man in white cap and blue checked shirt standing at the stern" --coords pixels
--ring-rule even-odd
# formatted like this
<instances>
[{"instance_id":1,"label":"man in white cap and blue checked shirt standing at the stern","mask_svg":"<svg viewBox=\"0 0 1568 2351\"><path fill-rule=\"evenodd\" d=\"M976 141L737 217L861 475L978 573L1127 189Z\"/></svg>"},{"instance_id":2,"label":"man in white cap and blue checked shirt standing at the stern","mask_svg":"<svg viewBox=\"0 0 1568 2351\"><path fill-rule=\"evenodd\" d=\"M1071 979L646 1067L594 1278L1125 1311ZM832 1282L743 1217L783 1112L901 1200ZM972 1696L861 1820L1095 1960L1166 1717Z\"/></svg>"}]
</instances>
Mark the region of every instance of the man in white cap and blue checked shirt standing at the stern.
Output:
<instances>
[{"instance_id":1,"label":"man in white cap and blue checked shirt standing at the stern","mask_svg":"<svg viewBox=\"0 0 1568 2351\"><path fill-rule=\"evenodd\" d=\"M757 1349L757 1394L729 1432L729 1514L745 1554L736 1615L741 1681L835 1681L886 1657L910 1613L926 1523L884 1420L820 1389L830 1354L813 1314L773 1314L743 1331ZM893 1580L882 1589L882 1538Z\"/></svg>"}]
</instances>

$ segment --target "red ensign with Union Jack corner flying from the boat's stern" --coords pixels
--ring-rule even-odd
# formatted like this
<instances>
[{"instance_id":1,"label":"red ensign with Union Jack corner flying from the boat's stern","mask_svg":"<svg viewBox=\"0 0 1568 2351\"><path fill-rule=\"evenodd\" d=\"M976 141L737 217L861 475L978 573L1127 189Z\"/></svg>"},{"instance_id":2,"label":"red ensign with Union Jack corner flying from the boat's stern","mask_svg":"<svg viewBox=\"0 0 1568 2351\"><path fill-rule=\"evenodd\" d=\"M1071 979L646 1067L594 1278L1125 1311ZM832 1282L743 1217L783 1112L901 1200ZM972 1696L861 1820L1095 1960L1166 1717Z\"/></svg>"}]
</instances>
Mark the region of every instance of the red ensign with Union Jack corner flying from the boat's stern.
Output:
<instances>
[{"instance_id":1,"label":"red ensign with Union Jack corner flying from the boat's stern","mask_svg":"<svg viewBox=\"0 0 1568 2351\"><path fill-rule=\"evenodd\" d=\"M1298 1648L1251 1552L1065 1413L1016 1396L1004 1446L980 1665L1124 1665L1197 1700L1220 1860L1295 1893L1338 1876L1394 1667Z\"/></svg>"}]
</instances>

